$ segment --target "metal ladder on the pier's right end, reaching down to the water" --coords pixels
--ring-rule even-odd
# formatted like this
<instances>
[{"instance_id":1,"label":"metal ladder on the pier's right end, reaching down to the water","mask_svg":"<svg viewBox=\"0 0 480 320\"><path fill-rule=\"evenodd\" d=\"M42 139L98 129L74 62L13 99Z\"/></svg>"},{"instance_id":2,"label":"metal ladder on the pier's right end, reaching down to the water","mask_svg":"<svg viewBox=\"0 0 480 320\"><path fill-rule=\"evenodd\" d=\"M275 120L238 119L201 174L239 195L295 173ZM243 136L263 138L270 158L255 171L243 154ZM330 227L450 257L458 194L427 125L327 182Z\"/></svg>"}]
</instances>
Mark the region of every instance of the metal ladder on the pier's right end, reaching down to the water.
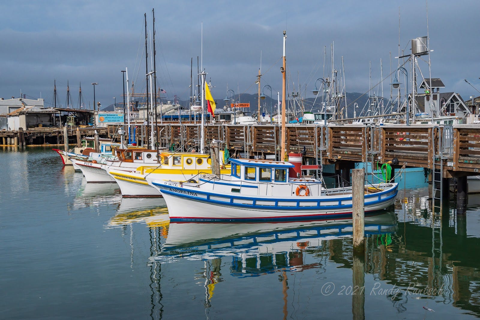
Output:
<instances>
[{"instance_id":1,"label":"metal ladder on the pier's right end, reaching down to the water","mask_svg":"<svg viewBox=\"0 0 480 320\"><path fill-rule=\"evenodd\" d=\"M435 140L436 136L438 140ZM432 142L432 213L434 214L435 209L438 209L442 215L444 160L453 154L453 126L443 126L443 130L440 126L434 126Z\"/></svg>"}]
</instances>

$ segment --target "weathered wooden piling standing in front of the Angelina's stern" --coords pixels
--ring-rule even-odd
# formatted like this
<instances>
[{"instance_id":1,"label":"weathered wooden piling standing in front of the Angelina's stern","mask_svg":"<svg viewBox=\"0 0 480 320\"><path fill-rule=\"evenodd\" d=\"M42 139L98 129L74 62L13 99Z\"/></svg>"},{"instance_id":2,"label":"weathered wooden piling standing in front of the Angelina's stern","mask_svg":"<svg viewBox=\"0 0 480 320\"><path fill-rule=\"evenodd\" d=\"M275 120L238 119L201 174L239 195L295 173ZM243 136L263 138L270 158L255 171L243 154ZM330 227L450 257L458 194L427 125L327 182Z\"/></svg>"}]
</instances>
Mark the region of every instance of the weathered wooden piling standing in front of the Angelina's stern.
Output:
<instances>
[{"instance_id":1,"label":"weathered wooden piling standing in front of the Angelina's stern","mask_svg":"<svg viewBox=\"0 0 480 320\"><path fill-rule=\"evenodd\" d=\"M365 253L365 169L352 169L353 251Z\"/></svg>"}]
</instances>

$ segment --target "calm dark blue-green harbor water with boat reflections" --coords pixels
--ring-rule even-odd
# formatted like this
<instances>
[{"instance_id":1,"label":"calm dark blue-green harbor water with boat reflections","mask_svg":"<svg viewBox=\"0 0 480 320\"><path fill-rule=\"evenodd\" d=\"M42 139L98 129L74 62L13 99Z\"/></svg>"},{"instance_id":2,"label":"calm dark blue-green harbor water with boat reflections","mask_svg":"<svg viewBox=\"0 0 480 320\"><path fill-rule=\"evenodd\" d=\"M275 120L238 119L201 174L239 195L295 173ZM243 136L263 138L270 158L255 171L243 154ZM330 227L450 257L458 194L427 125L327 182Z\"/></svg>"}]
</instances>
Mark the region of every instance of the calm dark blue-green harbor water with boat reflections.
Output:
<instances>
[{"instance_id":1,"label":"calm dark blue-green harbor water with boat reflections","mask_svg":"<svg viewBox=\"0 0 480 320\"><path fill-rule=\"evenodd\" d=\"M351 221L169 224L48 148L0 149L0 177L2 319L480 316L480 199L432 220L422 174L366 218L363 263Z\"/></svg>"}]
</instances>

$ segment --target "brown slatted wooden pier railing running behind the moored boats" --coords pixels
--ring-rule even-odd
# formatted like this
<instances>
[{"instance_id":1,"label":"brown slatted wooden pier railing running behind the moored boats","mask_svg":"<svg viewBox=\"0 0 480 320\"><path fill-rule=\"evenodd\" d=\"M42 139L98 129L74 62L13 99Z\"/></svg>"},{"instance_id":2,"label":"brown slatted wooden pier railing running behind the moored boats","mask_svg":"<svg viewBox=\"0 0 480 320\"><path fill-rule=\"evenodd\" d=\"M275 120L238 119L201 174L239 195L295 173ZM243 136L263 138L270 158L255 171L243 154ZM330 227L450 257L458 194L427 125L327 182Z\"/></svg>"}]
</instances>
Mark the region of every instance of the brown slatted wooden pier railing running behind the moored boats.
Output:
<instances>
[{"instance_id":1,"label":"brown slatted wooden pier railing running behind the moored boats","mask_svg":"<svg viewBox=\"0 0 480 320\"><path fill-rule=\"evenodd\" d=\"M117 126L108 127L114 137ZM162 147L200 144L200 124L158 125ZM249 156L279 154L278 125L206 124L205 145L220 140L230 154ZM397 166L442 168L443 178L478 175L480 169L480 125L287 125L287 150L318 159L319 164L349 167L356 162L386 163Z\"/></svg>"}]
</instances>

